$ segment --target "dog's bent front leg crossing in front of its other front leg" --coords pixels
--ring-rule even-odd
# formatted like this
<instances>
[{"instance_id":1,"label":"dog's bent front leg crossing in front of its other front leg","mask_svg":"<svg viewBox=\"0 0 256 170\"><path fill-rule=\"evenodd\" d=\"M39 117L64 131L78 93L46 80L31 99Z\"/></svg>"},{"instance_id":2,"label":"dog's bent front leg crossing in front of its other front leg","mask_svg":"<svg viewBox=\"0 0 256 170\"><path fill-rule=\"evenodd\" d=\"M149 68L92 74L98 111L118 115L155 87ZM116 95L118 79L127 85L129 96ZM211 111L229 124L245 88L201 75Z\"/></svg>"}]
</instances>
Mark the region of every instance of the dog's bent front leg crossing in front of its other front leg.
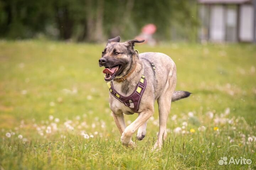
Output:
<instances>
[{"instance_id":1,"label":"dog's bent front leg crossing in front of its other front leg","mask_svg":"<svg viewBox=\"0 0 256 170\"><path fill-rule=\"evenodd\" d=\"M153 115L154 109L150 109L148 111L140 112L137 119L134 120L129 126L126 127L122 136L121 142L123 145L134 147L135 143L132 141L132 135L138 128L145 124L146 121Z\"/></svg>"}]
</instances>

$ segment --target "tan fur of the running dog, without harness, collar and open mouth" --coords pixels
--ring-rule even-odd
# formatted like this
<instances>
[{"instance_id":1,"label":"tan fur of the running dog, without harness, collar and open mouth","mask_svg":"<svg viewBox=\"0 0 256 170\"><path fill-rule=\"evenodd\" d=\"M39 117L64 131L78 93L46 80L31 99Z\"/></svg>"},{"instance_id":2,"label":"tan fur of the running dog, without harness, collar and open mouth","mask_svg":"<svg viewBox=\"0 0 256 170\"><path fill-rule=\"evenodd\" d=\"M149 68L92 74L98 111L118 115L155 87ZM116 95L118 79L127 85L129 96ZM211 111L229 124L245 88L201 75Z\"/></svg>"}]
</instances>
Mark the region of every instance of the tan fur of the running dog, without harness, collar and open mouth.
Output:
<instances>
[{"instance_id":1,"label":"tan fur of the running dog, without harness, collar and open mouth","mask_svg":"<svg viewBox=\"0 0 256 170\"><path fill-rule=\"evenodd\" d=\"M122 78L136 64L135 71L125 81L118 83L112 81L113 86L121 95L129 96L132 94L142 75L145 75L147 86L140 101L138 118L130 125L126 126L123 114L133 114L134 112L123 103L118 101L110 94L110 108L114 121L121 133L121 142L123 145L134 147L135 143L131 140L132 135L137 132L137 139L142 140L146 133L146 123L154 113L154 102L157 100L159 106L159 133L158 140L154 145L155 148L161 148L162 140L167 136L166 121L171 108L171 101L188 97L189 92L176 91L176 65L174 61L167 55L158 52L145 52L138 55L133 50L134 42L130 40L120 43L119 36L108 41L102 58L106 58L105 64L118 60L127 61L122 73L115 78ZM113 55L113 51L121 52L119 55ZM154 63L154 70L150 63Z\"/></svg>"}]
</instances>

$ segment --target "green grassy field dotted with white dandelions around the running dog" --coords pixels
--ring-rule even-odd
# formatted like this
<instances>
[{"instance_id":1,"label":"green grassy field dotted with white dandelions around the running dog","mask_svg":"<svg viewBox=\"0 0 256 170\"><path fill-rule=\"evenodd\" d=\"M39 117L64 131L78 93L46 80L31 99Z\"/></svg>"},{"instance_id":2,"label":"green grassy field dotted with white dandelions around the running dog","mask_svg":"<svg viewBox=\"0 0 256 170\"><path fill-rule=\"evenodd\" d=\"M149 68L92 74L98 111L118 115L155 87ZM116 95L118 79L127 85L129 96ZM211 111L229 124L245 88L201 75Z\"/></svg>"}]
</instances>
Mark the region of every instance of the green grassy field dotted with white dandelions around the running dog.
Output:
<instances>
[{"instance_id":1,"label":"green grassy field dotted with white dandelions around the running dog","mask_svg":"<svg viewBox=\"0 0 256 170\"><path fill-rule=\"evenodd\" d=\"M168 135L150 118L137 148L122 146L98 59L104 45L0 41L0 169L256 169L256 46L162 44L177 65ZM155 106L157 108L157 106ZM137 115L126 115L130 124ZM219 165L221 158L250 165ZM222 161L220 161L221 163Z\"/></svg>"}]
</instances>

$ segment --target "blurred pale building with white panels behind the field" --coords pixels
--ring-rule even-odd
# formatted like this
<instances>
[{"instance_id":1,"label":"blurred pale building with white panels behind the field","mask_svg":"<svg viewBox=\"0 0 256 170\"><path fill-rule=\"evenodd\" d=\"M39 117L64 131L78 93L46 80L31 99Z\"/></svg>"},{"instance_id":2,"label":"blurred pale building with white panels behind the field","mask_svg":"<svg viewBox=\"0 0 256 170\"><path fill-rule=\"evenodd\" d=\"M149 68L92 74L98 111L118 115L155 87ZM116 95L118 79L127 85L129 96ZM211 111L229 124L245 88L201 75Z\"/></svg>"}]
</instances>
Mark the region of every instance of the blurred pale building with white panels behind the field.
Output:
<instances>
[{"instance_id":1,"label":"blurred pale building with white panels behind the field","mask_svg":"<svg viewBox=\"0 0 256 170\"><path fill-rule=\"evenodd\" d=\"M198 0L199 39L256 42L256 0Z\"/></svg>"}]
</instances>

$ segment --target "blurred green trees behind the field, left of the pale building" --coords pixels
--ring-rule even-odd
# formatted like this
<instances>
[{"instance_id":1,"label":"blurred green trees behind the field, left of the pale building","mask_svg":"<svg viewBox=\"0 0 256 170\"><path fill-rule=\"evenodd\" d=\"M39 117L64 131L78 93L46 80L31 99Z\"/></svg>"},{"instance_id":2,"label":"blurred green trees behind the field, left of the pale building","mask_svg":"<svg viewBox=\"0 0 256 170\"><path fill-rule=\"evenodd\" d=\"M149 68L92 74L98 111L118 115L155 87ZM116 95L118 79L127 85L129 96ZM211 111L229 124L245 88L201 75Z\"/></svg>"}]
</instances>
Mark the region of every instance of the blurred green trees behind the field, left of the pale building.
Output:
<instances>
[{"instance_id":1,"label":"blurred green trees behind the field, left of the pale building","mask_svg":"<svg viewBox=\"0 0 256 170\"><path fill-rule=\"evenodd\" d=\"M130 39L148 23L156 38L194 40L196 0L0 0L0 37L101 42Z\"/></svg>"}]
</instances>

